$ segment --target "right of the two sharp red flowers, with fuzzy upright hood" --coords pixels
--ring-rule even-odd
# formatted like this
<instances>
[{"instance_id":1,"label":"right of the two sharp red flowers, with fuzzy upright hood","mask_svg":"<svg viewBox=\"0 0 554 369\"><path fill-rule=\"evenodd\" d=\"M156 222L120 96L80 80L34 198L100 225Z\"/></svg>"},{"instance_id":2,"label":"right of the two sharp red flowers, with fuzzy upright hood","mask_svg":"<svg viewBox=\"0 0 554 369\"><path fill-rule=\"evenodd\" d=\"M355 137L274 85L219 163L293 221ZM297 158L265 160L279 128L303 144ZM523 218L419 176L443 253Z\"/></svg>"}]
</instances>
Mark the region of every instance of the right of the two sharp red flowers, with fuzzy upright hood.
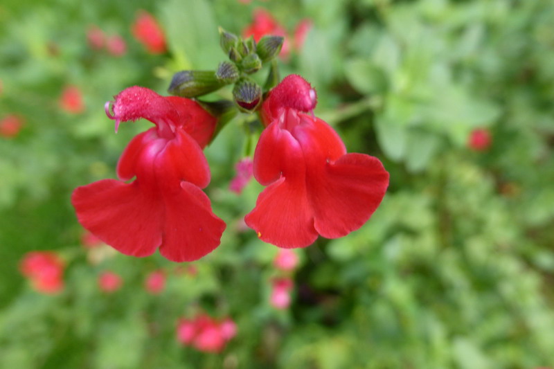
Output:
<instances>
[{"instance_id":1,"label":"right of the two sharp red flowers, with fuzzy upright hood","mask_svg":"<svg viewBox=\"0 0 554 369\"><path fill-rule=\"evenodd\" d=\"M330 125L302 112L315 101L310 84L289 75L262 105L269 125L256 146L254 177L268 187L244 220L276 246L304 247L318 235L348 235L368 221L388 186L379 159L347 154Z\"/></svg>"}]
</instances>

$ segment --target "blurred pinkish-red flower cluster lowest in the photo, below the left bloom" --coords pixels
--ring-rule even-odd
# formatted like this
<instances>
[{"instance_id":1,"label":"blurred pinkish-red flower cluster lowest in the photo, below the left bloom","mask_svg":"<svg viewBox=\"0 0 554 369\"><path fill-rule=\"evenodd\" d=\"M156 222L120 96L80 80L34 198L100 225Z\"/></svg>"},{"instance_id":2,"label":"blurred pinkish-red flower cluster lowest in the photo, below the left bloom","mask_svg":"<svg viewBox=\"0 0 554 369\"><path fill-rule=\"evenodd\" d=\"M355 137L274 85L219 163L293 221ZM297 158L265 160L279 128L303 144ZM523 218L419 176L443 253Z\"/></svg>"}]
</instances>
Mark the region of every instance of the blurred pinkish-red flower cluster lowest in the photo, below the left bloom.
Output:
<instances>
[{"instance_id":1,"label":"blurred pinkish-red flower cluster lowest in the photo, below the left bloom","mask_svg":"<svg viewBox=\"0 0 554 369\"><path fill-rule=\"evenodd\" d=\"M177 322L177 341L202 352L221 352L237 334L237 325L231 318L218 321L201 313L193 319Z\"/></svg>"}]
</instances>

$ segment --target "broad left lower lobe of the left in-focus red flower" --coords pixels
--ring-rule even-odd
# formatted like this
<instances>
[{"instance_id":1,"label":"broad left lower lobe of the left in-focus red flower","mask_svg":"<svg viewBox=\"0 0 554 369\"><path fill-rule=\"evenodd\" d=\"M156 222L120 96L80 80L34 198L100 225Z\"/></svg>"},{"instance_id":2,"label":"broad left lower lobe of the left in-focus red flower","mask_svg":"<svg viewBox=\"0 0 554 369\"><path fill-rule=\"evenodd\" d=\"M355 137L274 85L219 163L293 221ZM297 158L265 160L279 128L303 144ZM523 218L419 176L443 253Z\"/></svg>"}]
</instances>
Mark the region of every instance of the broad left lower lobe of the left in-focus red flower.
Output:
<instances>
[{"instance_id":1,"label":"broad left lower lobe of the left in-focus red flower","mask_svg":"<svg viewBox=\"0 0 554 369\"><path fill-rule=\"evenodd\" d=\"M125 255L148 256L161 244L163 206L139 181L103 179L71 195L80 224Z\"/></svg>"}]
</instances>

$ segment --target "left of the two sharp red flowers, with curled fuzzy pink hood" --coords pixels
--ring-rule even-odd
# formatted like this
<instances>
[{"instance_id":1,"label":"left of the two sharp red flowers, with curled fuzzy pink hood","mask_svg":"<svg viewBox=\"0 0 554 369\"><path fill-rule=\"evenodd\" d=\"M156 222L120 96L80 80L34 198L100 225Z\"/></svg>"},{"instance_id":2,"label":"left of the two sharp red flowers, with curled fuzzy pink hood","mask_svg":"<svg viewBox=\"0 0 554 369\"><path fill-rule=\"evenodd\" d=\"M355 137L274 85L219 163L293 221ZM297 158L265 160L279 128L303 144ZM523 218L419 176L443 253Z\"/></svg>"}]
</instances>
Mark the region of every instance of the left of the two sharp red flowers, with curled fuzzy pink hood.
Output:
<instances>
[{"instance_id":1,"label":"left of the two sharp red flowers, with curled fuzzy pink hood","mask_svg":"<svg viewBox=\"0 0 554 369\"><path fill-rule=\"evenodd\" d=\"M202 258L220 244L225 223L201 188L210 182L202 148L216 118L186 98L129 87L115 97L120 122L145 118L157 127L137 135L117 165L120 181L104 179L71 196L80 224L125 255L148 256L159 247L175 262ZM135 181L125 183L136 177Z\"/></svg>"}]
</instances>

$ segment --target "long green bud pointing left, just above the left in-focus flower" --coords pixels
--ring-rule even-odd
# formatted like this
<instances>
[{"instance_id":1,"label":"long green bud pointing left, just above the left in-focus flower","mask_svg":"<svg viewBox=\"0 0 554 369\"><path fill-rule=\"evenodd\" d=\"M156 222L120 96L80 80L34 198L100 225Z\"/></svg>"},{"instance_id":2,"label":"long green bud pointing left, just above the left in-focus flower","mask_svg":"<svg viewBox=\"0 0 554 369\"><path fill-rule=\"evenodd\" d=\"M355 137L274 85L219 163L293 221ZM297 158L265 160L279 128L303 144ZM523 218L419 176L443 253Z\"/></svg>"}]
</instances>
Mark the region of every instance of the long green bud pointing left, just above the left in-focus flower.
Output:
<instances>
[{"instance_id":1,"label":"long green bud pointing left, just above the left in-focus flower","mask_svg":"<svg viewBox=\"0 0 554 369\"><path fill-rule=\"evenodd\" d=\"M223 87L214 71L180 71L173 75L168 92L183 98L195 98Z\"/></svg>"}]
</instances>

